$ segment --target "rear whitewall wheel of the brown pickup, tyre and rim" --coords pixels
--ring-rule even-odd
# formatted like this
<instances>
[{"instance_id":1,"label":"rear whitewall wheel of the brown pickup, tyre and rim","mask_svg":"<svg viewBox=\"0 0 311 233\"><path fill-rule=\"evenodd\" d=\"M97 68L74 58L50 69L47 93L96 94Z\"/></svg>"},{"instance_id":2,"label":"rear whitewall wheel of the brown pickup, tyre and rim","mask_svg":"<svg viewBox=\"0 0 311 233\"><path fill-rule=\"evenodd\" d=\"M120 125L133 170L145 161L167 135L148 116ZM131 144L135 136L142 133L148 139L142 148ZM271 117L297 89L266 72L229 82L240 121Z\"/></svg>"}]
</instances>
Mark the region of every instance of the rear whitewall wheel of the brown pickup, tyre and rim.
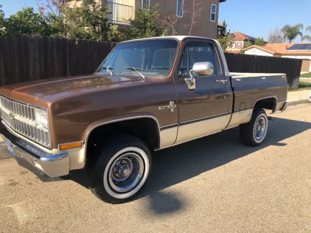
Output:
<instances>
[{"instance_id":1,"label":"rear whitewall wheel of the brown pickup, tyre and rim","mask_svg":"<svg viewBox=\"0 0 311 233\"><path fill-rule=\"evenodd\" d=\"M242 142L251 147L260 145L266 137L268 130L268 117L261 109L254 109L250 122L240 126L240 137Z\"/></svg>"}]
</instances>

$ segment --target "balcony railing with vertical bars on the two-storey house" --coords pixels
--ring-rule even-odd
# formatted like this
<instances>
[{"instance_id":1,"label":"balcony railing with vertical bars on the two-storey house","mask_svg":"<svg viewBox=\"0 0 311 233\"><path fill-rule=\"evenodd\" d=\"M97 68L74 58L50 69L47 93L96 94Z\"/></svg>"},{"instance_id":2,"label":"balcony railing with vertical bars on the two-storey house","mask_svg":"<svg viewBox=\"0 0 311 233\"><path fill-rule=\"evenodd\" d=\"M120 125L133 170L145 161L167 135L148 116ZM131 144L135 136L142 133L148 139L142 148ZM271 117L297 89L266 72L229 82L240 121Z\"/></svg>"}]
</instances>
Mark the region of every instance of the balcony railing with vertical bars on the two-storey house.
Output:
<instances>
[{"instance_id":1,"label":"balcony railing with vertical bars on the two-storey house","mask_svg":"<svg viewBox=\"0 0 311 233\"><path fill-rule=\"evenodd\" d=\"M110 9L108 20L116 23L129 23L130 18L134 18L134 7L107 1Z\"/></svg>"}]
</instances>

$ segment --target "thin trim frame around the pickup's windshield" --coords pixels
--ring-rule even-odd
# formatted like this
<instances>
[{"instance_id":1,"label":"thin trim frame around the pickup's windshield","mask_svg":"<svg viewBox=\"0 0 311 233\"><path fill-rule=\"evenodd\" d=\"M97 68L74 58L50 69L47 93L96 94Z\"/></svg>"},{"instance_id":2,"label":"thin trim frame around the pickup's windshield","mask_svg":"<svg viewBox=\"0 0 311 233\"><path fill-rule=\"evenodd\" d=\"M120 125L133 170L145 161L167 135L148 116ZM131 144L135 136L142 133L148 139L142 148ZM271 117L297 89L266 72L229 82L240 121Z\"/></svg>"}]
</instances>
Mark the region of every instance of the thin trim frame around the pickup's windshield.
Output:
<instances>
[{"instance_id":1,"label":"thin trim frame around the pickup's windshield","mask_svg":"<svg viewBox=\"0 0 311 233\"><path fill-rule=\"evenodd\" d=\"M139 41L147 41L147 40L175 40L177 41L177 46L176 46L176 52L174 54L174 58L172 60L172 66L170 67L170 69L168 70L168 73L165 75L166 77L168 77L171 73L172 73L172 70L173 70L173 67L174 67L174 64L176 62L176 59L177 59L177 56L178 56L178 53L179 53L179 50L180 50L180 45L181 45L181 42L180 40L178 40L177 38L167 38L165 36L163 37L156 37L156 39L149 39L149 38L143 38L143 39L139 39L139 40L128 40L128 41L124 41L124 42L121 42L121 43L118 43L109 53L108 55L104 58L104 61L99 65L99 67L101 67L105 61L107 60L107 58L111 55L111 53L121 44L127 44L127 43L134 43L134 42L139 42ZM98 72L96 72L99 67L97 67L97 69L95 70L94 74L98 74ZM151 76L151 75L145 75L145 77L148 77L148 76ZM158 75L158 74L154 74L152 76L163 76L163 75Z\"/></svg>"}]
</instances>

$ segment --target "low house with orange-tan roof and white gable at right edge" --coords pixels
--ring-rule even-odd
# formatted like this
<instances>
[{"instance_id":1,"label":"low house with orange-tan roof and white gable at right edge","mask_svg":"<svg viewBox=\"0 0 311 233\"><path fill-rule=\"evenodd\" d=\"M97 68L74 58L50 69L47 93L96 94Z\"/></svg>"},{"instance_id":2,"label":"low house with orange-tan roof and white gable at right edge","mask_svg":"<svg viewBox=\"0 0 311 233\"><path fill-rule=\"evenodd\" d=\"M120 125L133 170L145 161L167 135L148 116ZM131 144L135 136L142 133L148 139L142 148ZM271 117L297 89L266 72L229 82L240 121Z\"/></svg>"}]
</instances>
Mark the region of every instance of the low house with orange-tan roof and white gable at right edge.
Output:
<instances>
[{"instance_id":1,"label":"low house with orange-tan roof and white gable at right edge","mask_svg":"<svg viewBox=\"0 0 311 233\"><path fill-rule=\"evenodd\" d=\"M302 59L301 71L311 72L311 43L279 43L265 46L253 45L244 54Z\"/></svg>"}]
</instances>

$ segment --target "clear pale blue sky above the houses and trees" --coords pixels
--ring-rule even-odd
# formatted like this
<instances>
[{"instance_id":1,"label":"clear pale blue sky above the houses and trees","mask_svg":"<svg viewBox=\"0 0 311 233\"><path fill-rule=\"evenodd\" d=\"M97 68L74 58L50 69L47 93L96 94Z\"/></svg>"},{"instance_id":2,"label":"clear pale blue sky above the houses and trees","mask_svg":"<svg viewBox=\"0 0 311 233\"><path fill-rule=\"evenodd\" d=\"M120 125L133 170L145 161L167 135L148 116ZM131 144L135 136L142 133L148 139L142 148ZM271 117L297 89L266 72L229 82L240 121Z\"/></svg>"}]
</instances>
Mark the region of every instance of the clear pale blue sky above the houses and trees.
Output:
<instances>
[{"instance_id":1,"label":"clear pale blue sky above the houses and trees","mask_svg":"<svg viewBox=\"0 0 311 233\"><path fill-rule=\"evenodd\" d=\"M0 0L0 4L6 17L25 5L37 8L35 0ZM285 24L311 26L311 0L227 0L219 6L218 21L224 20L231 32L267 40L271 30L281 29ZM299 41L298 36L295 42Z\"/></svg>"}]
</instances>

